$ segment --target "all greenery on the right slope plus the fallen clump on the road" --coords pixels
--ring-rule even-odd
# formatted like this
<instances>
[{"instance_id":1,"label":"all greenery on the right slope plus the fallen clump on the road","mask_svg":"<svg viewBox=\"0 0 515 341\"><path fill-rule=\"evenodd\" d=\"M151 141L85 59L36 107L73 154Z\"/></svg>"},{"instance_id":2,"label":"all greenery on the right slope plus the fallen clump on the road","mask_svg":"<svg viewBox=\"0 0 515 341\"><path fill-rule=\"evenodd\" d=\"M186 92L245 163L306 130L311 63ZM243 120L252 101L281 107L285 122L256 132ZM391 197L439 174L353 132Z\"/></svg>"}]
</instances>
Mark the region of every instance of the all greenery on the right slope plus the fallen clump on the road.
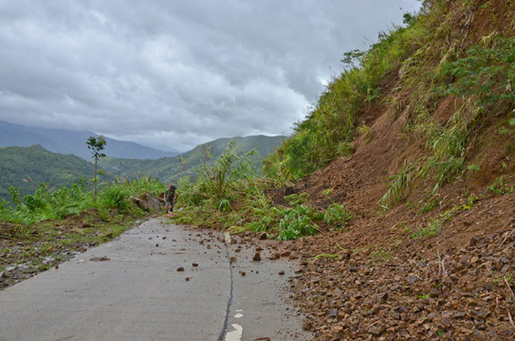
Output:
<instances>
[{"instance_id":1,"label":"all greenery on the right slope plus the fallen clump on the road","mask_svg":"<svg viewBox=\"0 0 515 341\"><path fill-rule=\"evenodd\" d=\"M480 172L471 153L477 154L480 132L492 125L508 141L509 160L515 142L515 38L509 32L515 22L510 31L493 30L475 40L454 33L456 13L466 13L470 24L473 13L495 6L480 2L425 1L420 13L404 15L404 26L380 32L369 50L344 53L342 74L296 123L294 134L264 159L264 177L248 167L251 153L237 156L231 145L212 168L197 169L196 182L180 184L179 205L184 209L175 221L267 231L278 239L341 230L353 214L345 203L333 202L330 193L324 193L324 205L313 205L307 193L274 193L354 154L358 144L373 141L375 132L368 125L382 112L391 121L404 120L399 138L421 143L422 152L406 153L396 173L384 179L388 188L377 202L378 214L405 202L415 187L416 193L424 193L418 198L419 212L441 206L442 187ZM495 17L488 19L495 22ZM435 112L445 101L452 105L449 116L441 119ZM512 188L508 178L503 175L491 184L492 191L507 193ZM440 230L436 219L413 237L434 237Z\"/></svg>"}]
</instances>

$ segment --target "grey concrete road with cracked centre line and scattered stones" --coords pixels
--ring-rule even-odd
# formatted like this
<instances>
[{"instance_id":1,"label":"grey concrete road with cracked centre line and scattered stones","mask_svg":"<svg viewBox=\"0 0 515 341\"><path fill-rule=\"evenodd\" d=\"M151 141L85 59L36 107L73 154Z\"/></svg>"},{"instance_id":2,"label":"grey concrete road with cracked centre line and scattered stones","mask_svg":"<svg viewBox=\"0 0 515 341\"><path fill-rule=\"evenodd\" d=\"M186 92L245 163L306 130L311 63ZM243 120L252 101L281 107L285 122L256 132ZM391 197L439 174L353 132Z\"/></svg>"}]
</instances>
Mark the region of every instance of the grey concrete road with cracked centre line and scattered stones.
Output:
<instances>
[{"instance_id":1,"label":"grey concrete road with cracked centre line and scattered stones","mask_svg":"<svg viewBox=\"0 0 515 341\"><path fill-rule=\"evenodd\" d=\"M292 264L207 233L152 219L3 290L0 340L310 340Z\"/></svg>"}]
</instances>

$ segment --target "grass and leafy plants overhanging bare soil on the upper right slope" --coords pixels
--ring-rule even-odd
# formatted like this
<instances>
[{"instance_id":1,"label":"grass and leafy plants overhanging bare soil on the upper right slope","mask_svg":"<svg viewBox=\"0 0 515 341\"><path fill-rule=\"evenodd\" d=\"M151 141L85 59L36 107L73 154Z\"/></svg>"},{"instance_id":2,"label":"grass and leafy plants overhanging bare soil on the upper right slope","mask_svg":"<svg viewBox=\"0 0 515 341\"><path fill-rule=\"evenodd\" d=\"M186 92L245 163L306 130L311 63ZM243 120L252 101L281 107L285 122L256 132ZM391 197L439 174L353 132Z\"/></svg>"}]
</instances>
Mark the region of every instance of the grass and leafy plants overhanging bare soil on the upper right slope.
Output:
<instances>
[{"instance_id":1,"label":"grass and leafy plants overhanging bare soil on the upper right slope","mask_svg":"<svg viewBox=\"0 0 515 341\"><path fill-rule=\"evenodd\" d=\"M419 63L427 65L429 61L421 59ZM437 75L430 79L433 90L429 93L434 95L431 100L422 102L420 97L411 98L415 110L405 129L406 133L425 139L428 155L391 177L395 181L390 182L390 189L380 200L385 207L399 203L403 198L400 190L403 193L409 191L411 182L417 178L434 179L431 195L443 184L458 180L468 169L468 151L473 143L477 143L473 136L491 124L493 117L506 120L509 127L514 119L510 117L515 110L514 37L502 38L493 33L488 39L482 39L480 45L467 49L463 56L451 58L446 55L430 70ZM429 79L422 77L417 81L427 83ZM442 125L431 117L431 113L446 96L455 96L461 104ZM506 127L499 131L508 138L515 137L511 133ZM399 180L404 180L402 187Z\"/></svg>"}]
</instances>

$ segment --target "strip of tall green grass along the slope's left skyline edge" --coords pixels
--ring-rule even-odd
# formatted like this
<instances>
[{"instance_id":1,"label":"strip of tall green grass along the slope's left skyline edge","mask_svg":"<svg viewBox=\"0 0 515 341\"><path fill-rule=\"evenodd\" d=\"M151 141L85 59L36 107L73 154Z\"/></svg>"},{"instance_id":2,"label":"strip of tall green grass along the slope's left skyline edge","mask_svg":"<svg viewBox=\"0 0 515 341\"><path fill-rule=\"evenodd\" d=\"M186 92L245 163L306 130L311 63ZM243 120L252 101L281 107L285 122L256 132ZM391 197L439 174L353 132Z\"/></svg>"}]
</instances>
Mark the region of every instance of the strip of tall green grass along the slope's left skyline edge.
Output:
<instances>
[{"instance_id":1,"label":"strip of tall green grass along the slope's left skyline edge","mask_svg":"<svg viewBox=\"0 0 515 341\"><path fill-rule=\"evenodd\" d=\"M417 17L410 25L380 33L368 51L349 51L342 62L347 69L333 79L294 134L264 160L264 174L278 180L300 179L326 166L336 157L354 152L354 128L365 104L378 101L381 81L397 70L420 39ZM356 65L356 66L355 66Z\"/></svg>"}]
</instances>

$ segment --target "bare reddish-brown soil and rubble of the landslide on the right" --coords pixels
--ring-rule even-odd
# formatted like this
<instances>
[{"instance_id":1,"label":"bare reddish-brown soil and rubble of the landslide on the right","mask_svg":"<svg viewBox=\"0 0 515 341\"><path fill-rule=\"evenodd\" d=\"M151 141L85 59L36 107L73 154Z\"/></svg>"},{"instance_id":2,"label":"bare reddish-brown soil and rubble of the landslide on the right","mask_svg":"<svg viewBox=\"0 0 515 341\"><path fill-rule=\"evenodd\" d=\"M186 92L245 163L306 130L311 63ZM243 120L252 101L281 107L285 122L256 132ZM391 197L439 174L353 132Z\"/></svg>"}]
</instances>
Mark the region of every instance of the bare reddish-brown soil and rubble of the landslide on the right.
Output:
<instances>
[{"instance_id":1,"label":"bare reddish-brown soil and rubble of the landslide on the right","mask_svg":"<svg viewBox=\"0 0 515 341\"><path fill-rule=\"evenodd\" d=\"M512 1L476 2L466 12L462 1L452 2L445 39L462 38L464 49L492 31L513 29ZM387 92L401 84L395 75L388 82ZM365 143L358 136L355 154L273 192L274 203L306 192L311 205L344 204L355 217L340 232L287 244L292 257L309 259L292 281L305 328L317 340L515 340L515 138L497 133L507 112L492 108L473 133L467 161L481 170L468 170L432 197L436 181L416 180L402 203L383 210L378 201L387 178L427 156L425 141L404 132L409 91L395 95L400 108L363 110L358 121L371 127L372 138ZM445 125L460 104L442 100L434 120ZM500 176L503 190L487 189ZM436 236L414 235L437 219Z\"/></svg>"}]
</instances>

